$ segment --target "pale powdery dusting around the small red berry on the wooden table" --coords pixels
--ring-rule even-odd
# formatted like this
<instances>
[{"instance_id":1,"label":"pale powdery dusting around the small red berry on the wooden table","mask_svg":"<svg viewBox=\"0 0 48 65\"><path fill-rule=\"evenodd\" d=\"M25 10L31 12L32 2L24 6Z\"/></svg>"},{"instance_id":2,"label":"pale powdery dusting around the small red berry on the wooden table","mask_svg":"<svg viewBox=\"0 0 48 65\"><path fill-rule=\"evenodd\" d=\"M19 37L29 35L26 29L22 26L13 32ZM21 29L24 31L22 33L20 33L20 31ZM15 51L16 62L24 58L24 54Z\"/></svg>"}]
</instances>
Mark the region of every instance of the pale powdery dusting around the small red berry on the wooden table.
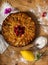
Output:
<instances>
[{"instance_id":1,"label":"pale powdery dusting around the small red berry on the wooden table","mask_svg":"<svg viewBox=\"0 0 48 65\"><path fill-rule=\"evenodd\" d=\"M37 4L36 5L36 10L34 9L30 9L31 12L33 12L36 16L37 16L37 19L39 21L39 24L43 24L45 25L46 21L48 21L48 6L46 5L45 7L41 7L40 4ZM42 16L42 14L46 12L46 16ZM46 23L47 25L47 23Z\"/></svg>"}]
</instances>

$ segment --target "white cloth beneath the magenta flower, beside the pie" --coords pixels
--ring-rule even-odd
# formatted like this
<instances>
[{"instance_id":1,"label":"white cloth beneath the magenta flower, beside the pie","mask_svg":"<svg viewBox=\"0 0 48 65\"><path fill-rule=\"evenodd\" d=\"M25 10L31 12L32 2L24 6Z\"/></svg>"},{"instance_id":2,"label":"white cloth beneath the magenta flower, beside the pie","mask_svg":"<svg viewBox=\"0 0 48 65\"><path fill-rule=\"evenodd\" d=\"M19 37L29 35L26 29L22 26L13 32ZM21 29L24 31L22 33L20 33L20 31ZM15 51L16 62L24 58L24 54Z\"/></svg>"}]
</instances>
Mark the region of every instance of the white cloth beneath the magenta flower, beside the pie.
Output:
<instances>
[{"instance_id":1,"label":"white cloth beneath the magenta flower, beside the pie","mask_svg":"<svg viewBox=\"0 0 48 65\"><path fill-rule=\"evenodd\" d=\"M9 3L3 3L2 6L0 7L0 24L3 23L3 20L9 15L8 14L4 14L4 11L6 8L12 8L11 5L9 5Z\"/></svg>"}]
</instances>

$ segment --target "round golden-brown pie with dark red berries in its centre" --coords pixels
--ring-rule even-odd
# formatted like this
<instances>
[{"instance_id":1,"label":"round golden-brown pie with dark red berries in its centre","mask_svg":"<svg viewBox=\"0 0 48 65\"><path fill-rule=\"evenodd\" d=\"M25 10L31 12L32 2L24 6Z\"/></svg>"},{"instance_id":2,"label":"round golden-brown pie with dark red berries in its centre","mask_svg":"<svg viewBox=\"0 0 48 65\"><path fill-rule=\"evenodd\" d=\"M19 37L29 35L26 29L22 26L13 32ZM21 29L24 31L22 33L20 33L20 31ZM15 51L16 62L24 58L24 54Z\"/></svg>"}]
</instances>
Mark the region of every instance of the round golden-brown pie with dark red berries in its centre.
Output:
<instances>
[{"instance_id":1,"label":"round golden-brown pie with dark red berries in its centre","mask_svg":"<svg viewBox=\"0 0 48 65\"><path fill-rule=\"evenodd\" d=\"M36 35L36 25L25 12L11 13L2 24L5 40L16 47L30 44Z\"/></svg>"}]
</instances>

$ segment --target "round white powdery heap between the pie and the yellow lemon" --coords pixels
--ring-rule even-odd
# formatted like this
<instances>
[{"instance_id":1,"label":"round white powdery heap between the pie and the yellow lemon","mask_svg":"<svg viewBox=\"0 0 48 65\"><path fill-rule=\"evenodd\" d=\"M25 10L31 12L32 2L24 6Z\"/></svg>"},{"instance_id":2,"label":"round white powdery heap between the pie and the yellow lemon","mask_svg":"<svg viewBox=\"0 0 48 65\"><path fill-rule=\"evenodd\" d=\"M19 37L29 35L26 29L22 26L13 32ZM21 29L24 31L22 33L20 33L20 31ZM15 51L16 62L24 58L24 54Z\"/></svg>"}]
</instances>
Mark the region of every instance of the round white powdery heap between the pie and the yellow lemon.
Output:
<instances>
[{"instance_id":1,"label":"round white powdery heap between the pie and the yellow lemon","mask_svg":"<svg viewBox=\"0 0 48 65\"><path fill-rule=\"evenodd\" d=\"M47 38L40 36L35 40L35 44L38 44L37 48L42 49L47 44Z\"/></svg>"}]
</instances>

